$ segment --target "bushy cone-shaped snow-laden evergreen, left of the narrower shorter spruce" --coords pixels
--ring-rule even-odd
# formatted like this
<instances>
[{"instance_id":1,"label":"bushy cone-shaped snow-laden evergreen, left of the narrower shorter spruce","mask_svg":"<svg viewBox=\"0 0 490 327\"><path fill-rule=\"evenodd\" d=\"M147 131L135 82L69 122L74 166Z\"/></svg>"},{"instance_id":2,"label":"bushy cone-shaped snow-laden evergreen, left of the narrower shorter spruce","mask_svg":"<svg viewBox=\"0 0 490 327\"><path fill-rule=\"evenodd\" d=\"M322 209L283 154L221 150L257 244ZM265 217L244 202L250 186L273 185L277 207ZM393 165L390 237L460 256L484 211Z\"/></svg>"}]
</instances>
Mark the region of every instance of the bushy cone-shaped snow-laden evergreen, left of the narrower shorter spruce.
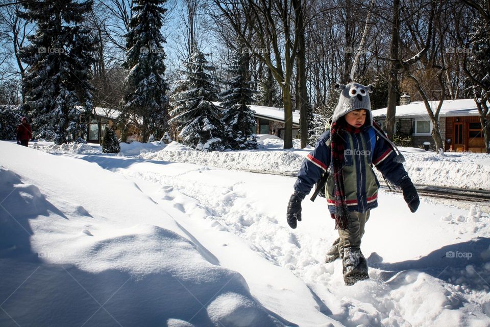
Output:
<instances>
[{"instance_id":1,"label":"bushy cone-shaped snow-laden evergreen, left of the narrower shorter spruce","mask_svg":"<svg viewBox=\"0 0 490 327\"><path fill-rule=\"evenodd\" d=\"M183 143L197 150L213 151L222 149L224 126L221 112L211 103L216 101L216 86L207 72L215 69L205 55L192 45L192 56L184 63L182 91L172 97L174 109L170 112L170 123L180 130Z\"/></svg>"}]
</instances>

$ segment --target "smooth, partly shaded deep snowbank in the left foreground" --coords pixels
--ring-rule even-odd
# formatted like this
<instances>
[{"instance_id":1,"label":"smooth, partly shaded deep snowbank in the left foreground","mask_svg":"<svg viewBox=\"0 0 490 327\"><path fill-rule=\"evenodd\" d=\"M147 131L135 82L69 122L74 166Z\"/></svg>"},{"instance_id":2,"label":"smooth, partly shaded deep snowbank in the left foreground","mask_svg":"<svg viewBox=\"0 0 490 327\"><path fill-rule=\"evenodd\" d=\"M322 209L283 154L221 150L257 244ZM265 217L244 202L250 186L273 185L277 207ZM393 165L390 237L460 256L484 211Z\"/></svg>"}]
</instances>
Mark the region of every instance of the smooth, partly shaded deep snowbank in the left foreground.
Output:
<instances>
[{"instance_id":1,"label":"smooth, partly shaded deep snowbank in the left foreground","mask_svg":"<svg viewBox=\"0 0 490 327\"><path fill-rule=\"evenodd\" d=\"M0 325L283 324L125 177L0 152Z\"/></svg>"}]
</instances>

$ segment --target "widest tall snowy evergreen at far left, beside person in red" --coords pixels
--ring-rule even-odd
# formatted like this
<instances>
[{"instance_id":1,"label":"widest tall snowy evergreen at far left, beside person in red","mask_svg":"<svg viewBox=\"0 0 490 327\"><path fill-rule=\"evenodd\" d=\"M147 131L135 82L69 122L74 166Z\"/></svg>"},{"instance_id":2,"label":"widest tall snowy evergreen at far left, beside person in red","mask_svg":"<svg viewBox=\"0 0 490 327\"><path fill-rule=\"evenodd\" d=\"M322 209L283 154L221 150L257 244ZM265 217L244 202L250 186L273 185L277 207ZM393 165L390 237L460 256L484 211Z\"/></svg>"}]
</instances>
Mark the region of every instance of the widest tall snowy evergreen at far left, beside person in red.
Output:
<instances>
[{"instance_id":1,"label":"widest tall snowy evergreen at far left, beside person in red","mask_svg":"<svg viewBox=\"0 0 490 327\"><path fill-rule=\"evenodd\" d=\"M20 49L29 68L22 79L34 136L56 144L77 141L86 133L83 122L92 108L90 65L94 40L82 26L92 1L28 0L20 16L34 21L31 44ZM77 107L80 106L80 107Z\"/></svg>"}]
</instances>

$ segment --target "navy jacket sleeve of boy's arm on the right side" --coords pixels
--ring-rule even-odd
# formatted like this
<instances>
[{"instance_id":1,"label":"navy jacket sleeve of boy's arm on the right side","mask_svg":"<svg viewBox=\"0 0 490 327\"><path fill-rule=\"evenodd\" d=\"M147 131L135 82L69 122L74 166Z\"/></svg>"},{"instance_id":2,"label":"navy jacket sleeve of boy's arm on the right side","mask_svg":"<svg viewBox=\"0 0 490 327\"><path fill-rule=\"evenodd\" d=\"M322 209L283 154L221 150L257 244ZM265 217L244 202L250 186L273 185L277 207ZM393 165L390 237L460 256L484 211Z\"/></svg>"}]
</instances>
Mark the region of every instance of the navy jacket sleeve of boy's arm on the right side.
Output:
<instances>
[{"instance_id":1,"label":"navy jacket sleeve of boy's arm on the right side","mask_svg":"<svg viewBox=\"0 0 490 327\"><path fill-rule=\"evenodd\" d=\"M395 186L400 186L403 178L408 176L403 164L397 162L397 153L384 138L378 137L373 153L373 165L376 166L386 179Z\"/></svg>"}]
</instances>

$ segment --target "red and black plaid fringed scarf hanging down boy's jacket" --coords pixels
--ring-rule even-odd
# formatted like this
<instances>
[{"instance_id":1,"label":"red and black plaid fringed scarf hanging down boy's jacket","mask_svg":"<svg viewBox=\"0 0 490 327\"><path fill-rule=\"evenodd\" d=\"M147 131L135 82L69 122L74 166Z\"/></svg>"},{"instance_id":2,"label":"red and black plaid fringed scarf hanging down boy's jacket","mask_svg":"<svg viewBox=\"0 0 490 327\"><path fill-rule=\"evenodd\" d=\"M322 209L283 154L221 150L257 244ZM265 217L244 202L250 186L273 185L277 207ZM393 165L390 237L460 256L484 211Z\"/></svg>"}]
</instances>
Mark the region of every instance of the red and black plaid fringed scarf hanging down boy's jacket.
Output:
<instances>
[{"instance_id":1,"label":"red and black plaid fringed scarf hanging down boy's jacket","mask_svg":"<svg viewBox=\"0 0 490 327\"><path fill-rule=\"evenodd\" d=\"M350 218L344 190L344 173L342 172L345 142L345 137L342 134L345 134L344 131L359 133L361 129L352 127L344 119L336 121L330 128L335 203L335 215L332 214L331 216L335 219L335 229L347 229Z\"/></svg>"}]
</instances>

